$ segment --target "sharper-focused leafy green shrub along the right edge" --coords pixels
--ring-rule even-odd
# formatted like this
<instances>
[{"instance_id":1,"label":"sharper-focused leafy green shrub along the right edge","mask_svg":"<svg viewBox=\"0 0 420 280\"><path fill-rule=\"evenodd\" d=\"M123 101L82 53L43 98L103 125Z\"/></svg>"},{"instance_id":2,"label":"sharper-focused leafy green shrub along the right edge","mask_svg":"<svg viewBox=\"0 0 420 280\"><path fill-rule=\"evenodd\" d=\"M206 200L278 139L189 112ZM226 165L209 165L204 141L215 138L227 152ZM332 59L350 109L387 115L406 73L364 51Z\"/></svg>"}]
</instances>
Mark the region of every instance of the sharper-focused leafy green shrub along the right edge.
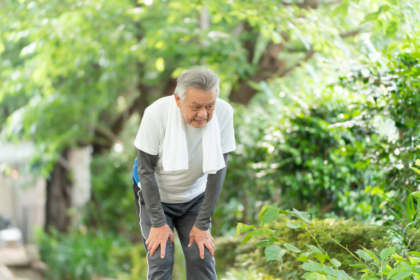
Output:
<instances>
[{"instance_id":1,"label":"sharper-focused leafy green shrub along the right edge","mask_svg":"<svg viewBox=\"0 0 420 280\"><path fill-rule=\"evenodd\" d=\"M418 229L419 187L417 174L412 172L418 163L415 150L420 127L418 30L407 32L400 46L401 53L385 53L377 60L364 61L346 77L341 86L352 92L364 92L370 96L366 104L359 106L365 112L359 118L360 125L373 128L383 140L366 147L362 153L370 168L387 170L376 180L374 188L367 192L382 197L381 208L386 204L388 215L378 220L388 225L393 234L410 250L412 243L406 236L407 229Z\"/></svg>"}]
</instances>

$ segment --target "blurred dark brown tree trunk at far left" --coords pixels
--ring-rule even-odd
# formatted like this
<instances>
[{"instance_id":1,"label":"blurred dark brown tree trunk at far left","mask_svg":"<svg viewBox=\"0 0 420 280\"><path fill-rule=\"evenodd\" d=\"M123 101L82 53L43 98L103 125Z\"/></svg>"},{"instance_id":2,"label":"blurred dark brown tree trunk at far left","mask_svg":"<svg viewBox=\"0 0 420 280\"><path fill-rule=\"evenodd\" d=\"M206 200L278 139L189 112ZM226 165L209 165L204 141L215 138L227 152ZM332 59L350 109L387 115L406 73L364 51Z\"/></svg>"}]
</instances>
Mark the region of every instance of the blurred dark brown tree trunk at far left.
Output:
<instances>
[{"instance_id":1,"label":"blurred dark brown tree trunk at far left","mask_svg":"<svg viewBox=\"0 0 420 280\"><path fill-rule=\"evenodd\" d=\"M68 210L71 207L72 184L69 179L68 152L68 148L64 149L47 180L46 232L50 232L50 229L66 232L71 224Z\"/></svg>"}]
</instances>

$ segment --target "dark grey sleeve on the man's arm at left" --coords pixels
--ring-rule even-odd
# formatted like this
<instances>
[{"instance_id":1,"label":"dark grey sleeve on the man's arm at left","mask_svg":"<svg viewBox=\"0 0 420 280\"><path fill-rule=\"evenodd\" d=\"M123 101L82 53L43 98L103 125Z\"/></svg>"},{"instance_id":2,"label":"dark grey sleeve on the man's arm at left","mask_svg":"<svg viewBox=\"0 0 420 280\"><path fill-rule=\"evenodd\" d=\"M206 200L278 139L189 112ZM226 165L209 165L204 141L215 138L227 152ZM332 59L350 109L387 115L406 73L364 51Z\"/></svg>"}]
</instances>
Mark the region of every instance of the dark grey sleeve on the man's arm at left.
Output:
<instances>
[{"instance_id":1,"label":"dark grey sleeve on the man's arm at left","mask_svg":"<svg viewBox=\"0 0 420 280\"><path fill-rule=\"evenodd\" d=\"M150 155L137 150L137 173L140 178L141 191L147 214L149 214L152 227L166 225L166 217L160 200L159 189L155 178L155 167L159 156Z\"/></svg>"}]
</instances>

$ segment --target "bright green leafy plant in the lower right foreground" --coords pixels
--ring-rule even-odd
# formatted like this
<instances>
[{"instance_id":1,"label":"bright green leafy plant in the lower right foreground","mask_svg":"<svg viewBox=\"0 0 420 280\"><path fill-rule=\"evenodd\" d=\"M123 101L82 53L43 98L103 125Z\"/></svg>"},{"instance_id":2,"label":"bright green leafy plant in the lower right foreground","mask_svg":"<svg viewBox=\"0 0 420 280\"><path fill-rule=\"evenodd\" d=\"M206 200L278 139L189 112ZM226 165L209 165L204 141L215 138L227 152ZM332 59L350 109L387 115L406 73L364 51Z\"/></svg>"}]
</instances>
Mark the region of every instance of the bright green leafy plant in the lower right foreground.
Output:
<instances>
[{"instance_id":1,"label":"bright green leafy plant in the lower right foreground","mask_svg":"<svg viewBox=\"0 0 420 280\"><path fill-rule=\"evenodd\" d=\"M309 250L306 249L304 252L302 250L306 247L299 246L299 242L294 242L292 245L285 242L278 230L263 227L265 223L271 223L281 214L286 214L290 218L297 218L297 220L289 219L286 222L286 225L292 229L304 230L311 236L314 244L306 245ZM322 238L320 237L324 237L341 247L349 258L353 258L353 260L357 262L355 264L350 264L350 266L362 269L359 273L362 272L363 274L358 275L358 279L384 279L384 276L387 276L387 279L391 280L412 279L412 277L420 279L420 252L410 251L403 257L396 253L395 246L381 250L380 254L375 254L373 251L361 246L363 250L359 249L353 253L348 246L341 244L336 238L332 237L331 234L311 221L309 213L300 212L296 209L293 209L293 211L281 210L275 205L266 205L259 213L259 218L261 221L261 228L257 229L254 225L238 224L236 235L238 236L240 233L251 230L242 241L242 244L248 242L253 237L267 237L267 240L260 241L255 244L255 246L266 247L264 250L266 260L276 261L280 271L284 267L283 259L286 254L294 258L295 261L303 262L301 269L306 271L306 273L302 275L302 273L295 270L294 273L287 275L287 277L298 274L307 280L354 280L354 278L349 276L345 270L341 269L344 267L342 266L342 259L338 260L336 258L338 254L335 252L335 254L328 252L326 246L320 244L322 241ZM317 238L315 233L319 233L321 236L318 236ZM324 243L328 242L325 242L324 240ZM280 244L283 247L280 247L277 244ZM353 272L353 275L359 273Z\"/></svg>"}]
</instances>

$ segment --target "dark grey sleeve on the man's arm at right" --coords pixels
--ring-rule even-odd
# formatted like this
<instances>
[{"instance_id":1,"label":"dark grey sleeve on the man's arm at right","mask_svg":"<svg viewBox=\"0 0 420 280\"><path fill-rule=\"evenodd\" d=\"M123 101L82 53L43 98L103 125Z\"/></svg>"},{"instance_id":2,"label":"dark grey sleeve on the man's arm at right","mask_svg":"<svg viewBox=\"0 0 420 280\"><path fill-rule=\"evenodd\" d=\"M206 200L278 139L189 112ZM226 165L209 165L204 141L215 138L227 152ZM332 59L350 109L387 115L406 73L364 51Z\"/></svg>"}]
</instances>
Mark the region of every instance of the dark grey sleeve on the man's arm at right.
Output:
<instances>
[{"instance_id":1,"label":"dark grey sleeve on the man's arm at right","mask_svg":"<svg viewBox=\"0 0 420 280\"><path fill-rule=\"evenodd\" d=\"M216 208L216 202L219 198L220 191L222 190L223 182L225 181L228 154L229 153L223 154L226 167L217 171L216 174L208 175L204 201L194 224L198 229L209 229L211 216L213 215L214 208Z\"/></svg>"}]
</instances>

